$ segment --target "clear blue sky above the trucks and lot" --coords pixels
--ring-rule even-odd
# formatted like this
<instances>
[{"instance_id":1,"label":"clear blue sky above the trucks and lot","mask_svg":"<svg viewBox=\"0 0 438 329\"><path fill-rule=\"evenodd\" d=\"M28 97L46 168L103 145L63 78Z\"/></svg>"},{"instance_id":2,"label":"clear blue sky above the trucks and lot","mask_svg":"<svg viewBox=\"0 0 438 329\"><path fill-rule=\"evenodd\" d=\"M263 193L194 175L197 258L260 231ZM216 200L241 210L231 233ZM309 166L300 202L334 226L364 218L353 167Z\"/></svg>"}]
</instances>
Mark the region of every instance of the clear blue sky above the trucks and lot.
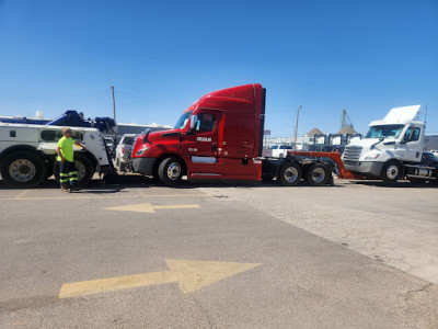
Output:
<instances>
[{"instance_id":1,"label":"clear blue sky above the trucks and lot","mask_svg":"<svg viewBox=\"0 0 438 329\"><path fill-rule=\"evenodd\" d=\"M203 94L260 82L266 128L357 131L428 106L438 133L438 1L0 0L0 115L173 125Z\"/></svg>"}]
</instances>

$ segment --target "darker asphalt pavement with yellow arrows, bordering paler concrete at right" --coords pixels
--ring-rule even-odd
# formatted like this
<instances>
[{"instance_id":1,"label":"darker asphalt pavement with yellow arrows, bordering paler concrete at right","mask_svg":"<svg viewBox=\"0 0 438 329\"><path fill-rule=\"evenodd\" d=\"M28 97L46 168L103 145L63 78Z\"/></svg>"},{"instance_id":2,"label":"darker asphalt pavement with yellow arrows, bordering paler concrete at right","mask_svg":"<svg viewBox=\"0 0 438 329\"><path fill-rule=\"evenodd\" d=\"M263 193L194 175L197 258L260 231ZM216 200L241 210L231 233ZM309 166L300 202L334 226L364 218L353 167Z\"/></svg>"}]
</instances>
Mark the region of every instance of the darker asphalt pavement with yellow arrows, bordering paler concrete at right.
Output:
<instances>
[{"instance_id":1,"label":"darker asphalt pavement with yellow arrows, bordering paler concrete at right","mask_svg":"<svg viewBox=\"0 0 438 329\"><path fill-rule=\"evenodd\" d=\"M0 327L438 327L436 284L227 186L0 184Z\"/></svg>"}]
</instances>

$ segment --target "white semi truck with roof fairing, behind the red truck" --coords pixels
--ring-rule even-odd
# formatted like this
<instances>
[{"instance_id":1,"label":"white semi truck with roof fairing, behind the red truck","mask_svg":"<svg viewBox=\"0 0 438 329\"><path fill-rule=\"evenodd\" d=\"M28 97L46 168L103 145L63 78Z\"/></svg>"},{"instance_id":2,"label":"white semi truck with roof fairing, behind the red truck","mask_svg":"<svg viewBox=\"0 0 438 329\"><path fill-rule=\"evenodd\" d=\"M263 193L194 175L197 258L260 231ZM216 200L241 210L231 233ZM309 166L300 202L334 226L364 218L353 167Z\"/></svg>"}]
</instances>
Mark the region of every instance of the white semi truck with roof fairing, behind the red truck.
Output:
<instances>
[{"instance_id":1,"label":"white semi truck with roof fairing, behind the red truck","mask_svg":"<svg viewBox=\"0 0 438 329\"><path fill-rule=\"evenodd\" d=\"M381 121L369 124L365 138L351 141L342 156L351 173L380 178L437 181L437 166L423 163L425 123L417 121L420 105L392 109Z\"/></svg>"}]
</instances>

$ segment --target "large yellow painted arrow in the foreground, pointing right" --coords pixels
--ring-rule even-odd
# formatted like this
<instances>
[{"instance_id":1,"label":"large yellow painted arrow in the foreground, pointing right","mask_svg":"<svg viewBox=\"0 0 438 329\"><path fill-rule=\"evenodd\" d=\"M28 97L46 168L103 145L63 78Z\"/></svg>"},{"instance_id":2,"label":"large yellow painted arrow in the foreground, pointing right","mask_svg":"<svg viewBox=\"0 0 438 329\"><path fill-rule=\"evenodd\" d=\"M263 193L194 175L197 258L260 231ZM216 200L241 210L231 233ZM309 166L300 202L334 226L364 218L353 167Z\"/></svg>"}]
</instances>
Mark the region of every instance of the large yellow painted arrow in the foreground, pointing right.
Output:
<instances>
[{"instance_id":1,"label":"large yellow painted arrow in the foreground, pointing right","mask_svg":"<svg viewBox=\"0 0 438 329\"><path fill-rule=\"evenodd\" d=\"M258 266L257 263L165 260L170 271L62 284L59 298L177 282L184 294Z\"/></svg>"}]
</instances>

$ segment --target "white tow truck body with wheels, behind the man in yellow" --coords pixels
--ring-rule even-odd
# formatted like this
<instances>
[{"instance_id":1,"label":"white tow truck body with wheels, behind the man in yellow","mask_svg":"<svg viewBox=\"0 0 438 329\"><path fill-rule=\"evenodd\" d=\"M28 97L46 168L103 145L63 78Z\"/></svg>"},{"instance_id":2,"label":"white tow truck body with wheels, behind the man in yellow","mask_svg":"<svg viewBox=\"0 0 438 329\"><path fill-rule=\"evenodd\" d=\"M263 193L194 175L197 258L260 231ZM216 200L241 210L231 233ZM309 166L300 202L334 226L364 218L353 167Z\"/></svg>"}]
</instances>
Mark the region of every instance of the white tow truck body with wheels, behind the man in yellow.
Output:
<instances>
[{"instance_id":1,"label":"white tow truck body with wheels, behind the man in yellow","mask_svg":"<svg viewBox=\"0 0 438 329\"><path fill-rule=\"evenodd\" d=\"M95 172L114 173L103 136L97 128L71 127L72 138L87 145L74 150L78 185L90 182ZM0 123L0 173L12 188L33 188L59 170L56 147L62 126Z\"/></svg>"}]
</instances>

